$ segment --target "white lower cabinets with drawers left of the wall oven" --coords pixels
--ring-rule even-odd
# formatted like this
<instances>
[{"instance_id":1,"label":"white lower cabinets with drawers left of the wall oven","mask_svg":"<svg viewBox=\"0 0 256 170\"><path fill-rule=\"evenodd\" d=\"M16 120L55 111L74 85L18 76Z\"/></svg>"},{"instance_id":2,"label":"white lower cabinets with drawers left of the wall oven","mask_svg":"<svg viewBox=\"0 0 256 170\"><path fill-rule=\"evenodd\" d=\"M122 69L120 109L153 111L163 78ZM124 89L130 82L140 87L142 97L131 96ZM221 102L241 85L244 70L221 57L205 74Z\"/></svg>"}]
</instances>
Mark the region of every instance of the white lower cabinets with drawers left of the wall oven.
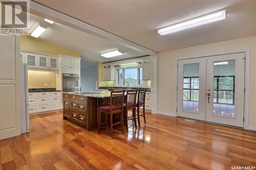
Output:
<instances>
[{"instance_id":1,"label":"white lower cabinets with drawers left of the wall oven","mask_svg":"<svg viewBox=\"0 0 256 170\"><path fill-rule=\"evenodd\" d=\"M29 113L36 114L45 111L62 109L61 92L31 92L29 93Z\"/></svg>"}]
</instances>

